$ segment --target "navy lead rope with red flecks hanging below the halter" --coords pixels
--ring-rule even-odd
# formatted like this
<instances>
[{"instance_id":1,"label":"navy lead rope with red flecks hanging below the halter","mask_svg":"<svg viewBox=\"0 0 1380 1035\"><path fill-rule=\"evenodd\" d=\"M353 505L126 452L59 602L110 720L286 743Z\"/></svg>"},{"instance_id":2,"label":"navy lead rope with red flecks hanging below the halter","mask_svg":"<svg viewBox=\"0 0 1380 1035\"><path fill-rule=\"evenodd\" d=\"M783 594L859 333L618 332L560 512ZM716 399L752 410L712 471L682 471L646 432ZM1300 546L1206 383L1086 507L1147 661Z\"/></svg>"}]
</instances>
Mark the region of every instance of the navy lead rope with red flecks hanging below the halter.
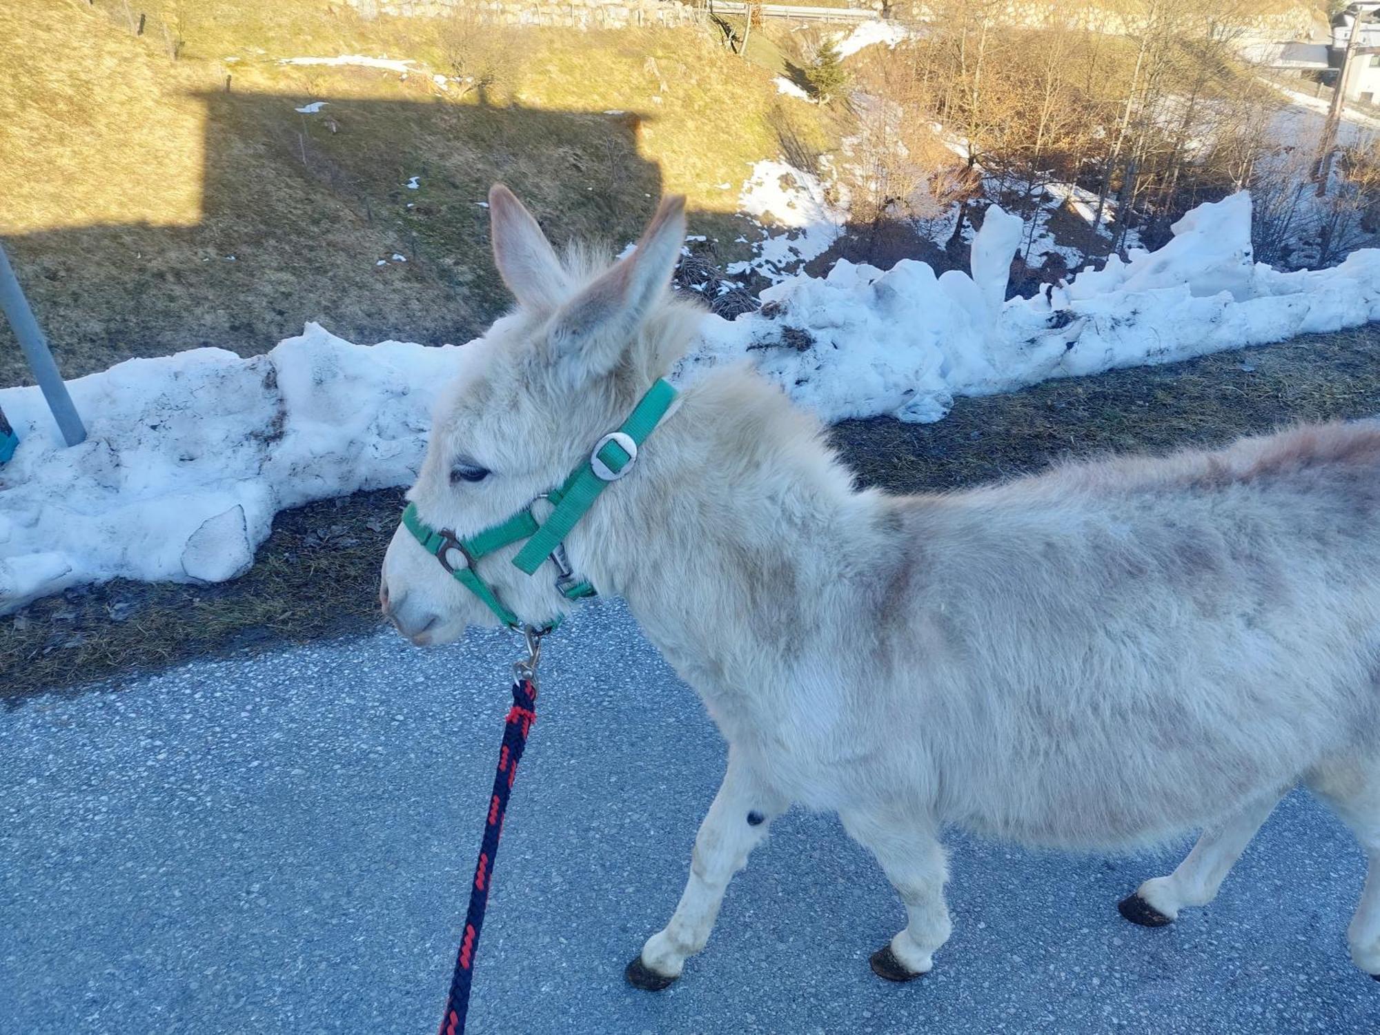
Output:
<instances>
[{"instance_id":1,"label":"navy lead rope with red flecks hanging below the halter","mask_svg":"<svg viewBox=\"0 0 1380 1035\"><path fill-rule=\"evenodd\" d=\"M479 845L479 862L475 865L475 882L469 887L469 911L465 914L465 933L455 955L455 974L450 980L450 998L446 1000L446 1016L440 1023L440 1035L462 1035L465 1014L469 1013L469 983L473 978L475 952L479 949L479 933L484 927L484 909L489 907L489 887L493 883L494 858L498 856L498 836L504 829L504 813L508 810L508 793L518 777L518 762L527 747L527 734L537 722L537 684L529 679L513 682L513 707L508 709L508 723L504 727L504 744L498 749L498 771L494 774L494 792L489 799L489 820L484 824L484 839Z\"/></svg>"}]
</instances>

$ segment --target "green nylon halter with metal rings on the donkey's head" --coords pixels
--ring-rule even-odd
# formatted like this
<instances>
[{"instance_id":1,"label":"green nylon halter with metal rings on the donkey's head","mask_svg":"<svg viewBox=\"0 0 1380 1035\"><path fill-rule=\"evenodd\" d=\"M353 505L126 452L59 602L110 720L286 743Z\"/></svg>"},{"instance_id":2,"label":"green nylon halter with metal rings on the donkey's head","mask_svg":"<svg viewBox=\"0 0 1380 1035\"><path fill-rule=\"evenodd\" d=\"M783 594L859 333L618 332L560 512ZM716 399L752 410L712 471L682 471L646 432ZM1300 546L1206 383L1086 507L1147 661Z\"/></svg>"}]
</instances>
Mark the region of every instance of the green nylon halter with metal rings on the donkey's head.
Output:
<instances>
[{"instance_id":1,"label":"green nylon halter with metal rings on the donkey's head","mask_svg":"<svg viewBox=\"0 0 1380 1035\"><path fill-rule=\"evenodd\" d=\"M403 526L422 544L428 553L440 562L440 566L453 578L477 596L490 611L498 615L498 621L511 629L520 628L523 622L508 610L498 599L498 593L475 571L475 564L482 558L504 546L527 541L513 558L513 564L529 575L535 574L537 569L548 559L552 560L559 573L556 588L567 600L595 596L595 588L589 582L578 581L571 575L562 544L599 498L599 494L632 469L638 460L638 447L656 431L657 424L667 415L678 395L676 389L667 381L657 379L618 431L599 439L589 460L571 471L560 489L553 489L545 497L538 497L549 500L555 505L545 523L538 522L529 506L506 520L462 540L450 529L432 529L417 515L417 504L407 504L407 509L403 511ZM453 552L458 555L458 559L450 556ZM548 624L545 631L549 632L559 624L560 618L558 617Z\"/></svg>"}]
</instances>

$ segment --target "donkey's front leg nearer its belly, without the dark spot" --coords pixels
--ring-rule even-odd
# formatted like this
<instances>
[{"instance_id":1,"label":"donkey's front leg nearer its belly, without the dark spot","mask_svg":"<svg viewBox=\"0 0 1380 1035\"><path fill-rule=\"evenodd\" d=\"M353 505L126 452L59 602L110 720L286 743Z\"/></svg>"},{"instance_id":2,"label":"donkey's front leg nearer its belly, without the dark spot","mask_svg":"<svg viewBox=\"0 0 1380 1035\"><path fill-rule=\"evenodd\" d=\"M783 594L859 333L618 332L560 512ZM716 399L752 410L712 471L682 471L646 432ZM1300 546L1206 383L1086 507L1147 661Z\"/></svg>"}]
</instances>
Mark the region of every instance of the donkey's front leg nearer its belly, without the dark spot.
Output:
<instances>
[{"instance_id":1,"label":"donkey's front leg nearer its belly, without the dark spot","mask_svg":"<svg viewBox=\"0 0 1380 1035\"><path fill-rule=\"evenodd\" d=\"M934 952L948 941L954 925L944 904L948 865L944 847L920 817L843 811L843 829L869 849L891 887L905 903L908 923L871 960L874 973L887 981L909 981L934 966Z\"/></svg>"}]
</instances>

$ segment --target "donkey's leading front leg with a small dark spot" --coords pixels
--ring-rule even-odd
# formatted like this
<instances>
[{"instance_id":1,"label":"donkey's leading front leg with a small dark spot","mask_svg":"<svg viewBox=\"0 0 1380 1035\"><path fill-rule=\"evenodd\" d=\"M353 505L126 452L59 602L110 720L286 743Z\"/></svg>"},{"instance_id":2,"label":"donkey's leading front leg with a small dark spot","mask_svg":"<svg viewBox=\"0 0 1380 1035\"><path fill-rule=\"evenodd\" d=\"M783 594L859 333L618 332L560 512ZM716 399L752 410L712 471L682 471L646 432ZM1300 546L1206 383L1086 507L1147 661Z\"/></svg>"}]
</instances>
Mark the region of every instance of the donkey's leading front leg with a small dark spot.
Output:
<instances>
[{"instance_id":1,"label":"donkey's leading front leg with a small dark spot","mask_svg":"<svg viewBox=\"0 0 1380 1035\"><path fill-rule=\"evenodd\" d=\"M752 773L740 752L729 748L729 770L700 824L680 904L671 922L647 938L628 965L629 984L657 992L680 977L686 958L709 940L729 880L747 865L748 853L766 839L771 820L789 805Z\"/></svg>"}]
</instances>

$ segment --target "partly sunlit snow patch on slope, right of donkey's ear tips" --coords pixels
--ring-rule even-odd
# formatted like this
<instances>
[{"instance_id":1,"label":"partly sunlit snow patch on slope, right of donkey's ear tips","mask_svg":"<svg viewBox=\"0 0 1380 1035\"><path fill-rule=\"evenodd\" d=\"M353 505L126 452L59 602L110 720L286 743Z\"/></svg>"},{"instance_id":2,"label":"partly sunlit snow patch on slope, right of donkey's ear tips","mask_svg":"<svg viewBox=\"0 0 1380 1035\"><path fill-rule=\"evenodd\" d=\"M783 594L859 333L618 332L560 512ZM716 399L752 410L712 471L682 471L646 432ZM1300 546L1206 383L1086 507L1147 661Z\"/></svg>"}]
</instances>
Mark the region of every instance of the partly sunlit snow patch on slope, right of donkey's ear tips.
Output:
<instances>
[{"instance_id":1,"label":"partly sunlit snow patch on slope, right of donkey's ear tips","mask_svg":"<svg viewBox=\"0 0 1380 1035\"><path fill-rule=\"evenodd\" d=\"M835 190L842 195L836 201L829 199L820 177L780 159L752 166L752 175L738 195L738 211L756 225L762 237L752 243L753 257L729 265L727 272L756 270L777 282L828 251L847 222L846 192L838 186Z\"/></svg>"}]
</instances>

